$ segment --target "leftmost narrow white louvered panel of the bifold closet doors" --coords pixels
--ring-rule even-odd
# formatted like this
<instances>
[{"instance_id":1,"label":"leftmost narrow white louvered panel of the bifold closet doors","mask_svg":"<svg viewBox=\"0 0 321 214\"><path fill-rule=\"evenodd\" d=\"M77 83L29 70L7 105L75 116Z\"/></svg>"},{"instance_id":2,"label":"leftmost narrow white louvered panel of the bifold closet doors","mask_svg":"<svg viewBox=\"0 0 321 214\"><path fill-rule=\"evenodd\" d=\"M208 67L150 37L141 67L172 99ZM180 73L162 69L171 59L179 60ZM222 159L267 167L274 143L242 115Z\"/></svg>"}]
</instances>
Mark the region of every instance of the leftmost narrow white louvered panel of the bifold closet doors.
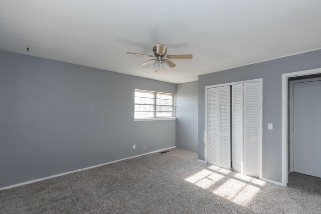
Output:
<instances>
[{"instance_id":1,"label":"leftmost narrow white louvered panel of the bifold closet doors","mask_svg":"<svg viewBox=\"0 0 321 214\"><path fill-rule=\"evenodd\" d=\"M208 120L208 163L218 165L218 90L209 88L207 91L207 120Z\"/></svg>"}]
</instances>

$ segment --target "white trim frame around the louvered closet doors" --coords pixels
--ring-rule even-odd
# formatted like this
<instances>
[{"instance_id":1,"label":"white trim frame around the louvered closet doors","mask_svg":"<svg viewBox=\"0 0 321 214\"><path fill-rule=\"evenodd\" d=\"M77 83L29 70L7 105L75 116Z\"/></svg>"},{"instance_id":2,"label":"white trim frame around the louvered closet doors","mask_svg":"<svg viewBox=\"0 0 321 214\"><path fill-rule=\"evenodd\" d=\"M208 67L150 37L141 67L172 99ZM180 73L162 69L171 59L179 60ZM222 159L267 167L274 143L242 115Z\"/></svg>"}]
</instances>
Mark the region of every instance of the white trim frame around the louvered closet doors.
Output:
<instances>
[{"instance_id":1,"label":"white trim frame around the louvered closet doors","mask_svg":"<svg viewBox=\"0 0 321 214\"><path fill-rule=\"evenodd\" d=\"M251 83L251 82L259 82L260 85L260 109L259 109L259 179L264 180L262 177L262 131L263 131L263 121L262 121L262 107L263 107L263 78L259 79L253 79L253 80L245 80L245 81L239 81L239 82L231 82L231 83L223 83L223 84L217 84L217 85L210 85L210 86L205 86L205 162L207 163L208 161L208 89L209 88L217 88L217 87L222 87L222 86L232 86L232 85L237 85L241 83ZM231 138L232 139L232 138ZM232 156L232 155L231 155Z\"/></svg>"}]
</instances>

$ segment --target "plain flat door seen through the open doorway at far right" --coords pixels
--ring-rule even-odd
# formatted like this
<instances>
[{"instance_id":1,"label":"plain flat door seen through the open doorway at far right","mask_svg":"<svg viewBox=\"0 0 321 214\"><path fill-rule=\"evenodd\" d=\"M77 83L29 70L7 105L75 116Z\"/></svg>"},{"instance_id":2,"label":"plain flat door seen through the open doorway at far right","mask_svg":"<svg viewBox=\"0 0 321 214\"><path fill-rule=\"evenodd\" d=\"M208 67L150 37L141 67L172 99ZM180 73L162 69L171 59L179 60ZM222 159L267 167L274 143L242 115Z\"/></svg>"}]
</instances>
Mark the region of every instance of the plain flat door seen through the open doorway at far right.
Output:
<instances>
[{"instance_id":1,"label":"plain flat door seen through the open doorway at far right","mask_svg":"<svg viewBox=\"0 0 321 214\"><path fill-rule=\"evenodd\" d=\"M321 177L321 81L294 84L294 171Z\"/></svg>"}]
</instances>

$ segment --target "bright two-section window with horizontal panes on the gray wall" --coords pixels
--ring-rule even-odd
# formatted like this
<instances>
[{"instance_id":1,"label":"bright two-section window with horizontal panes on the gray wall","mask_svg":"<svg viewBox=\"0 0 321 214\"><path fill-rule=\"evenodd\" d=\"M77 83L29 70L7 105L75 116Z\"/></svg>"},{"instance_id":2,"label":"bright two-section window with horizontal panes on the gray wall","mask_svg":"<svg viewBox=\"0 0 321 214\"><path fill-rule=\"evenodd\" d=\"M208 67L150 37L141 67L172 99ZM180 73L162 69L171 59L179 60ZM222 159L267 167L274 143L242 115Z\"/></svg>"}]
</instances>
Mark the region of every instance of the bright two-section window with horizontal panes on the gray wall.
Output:
<instances>
[{"instance_id":1,"label":"bright two-section window with horizontal panes on the gray wall","mask_svg":"<svg viewBox=\"0 0 321 214\"><path fill-rule=\"evenodd\" d=\"M174 117L174 94L135 90L134 119L169 117Z\"/></svg>"}]
</instances>

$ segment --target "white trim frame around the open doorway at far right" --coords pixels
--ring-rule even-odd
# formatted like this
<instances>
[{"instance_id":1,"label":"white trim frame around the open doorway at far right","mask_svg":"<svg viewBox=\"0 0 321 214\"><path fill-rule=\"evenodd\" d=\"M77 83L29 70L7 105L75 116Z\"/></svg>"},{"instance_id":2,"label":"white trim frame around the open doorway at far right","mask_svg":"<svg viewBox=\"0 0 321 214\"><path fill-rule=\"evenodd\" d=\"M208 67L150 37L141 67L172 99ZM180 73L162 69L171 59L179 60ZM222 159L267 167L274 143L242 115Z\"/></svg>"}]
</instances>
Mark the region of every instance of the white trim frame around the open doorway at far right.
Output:
<instances>
[{"instance_id":1,"label":"white trim frame around the open doorway at far right","mask_svg":"<svg viewBox=\"0 0 321 214\"><path fill-rule=\"evenodd\" d=\"M282 186L288 182L288 79L291 77L320 74L321 68L282 74Z\"/></svg>"}]
</instances>

